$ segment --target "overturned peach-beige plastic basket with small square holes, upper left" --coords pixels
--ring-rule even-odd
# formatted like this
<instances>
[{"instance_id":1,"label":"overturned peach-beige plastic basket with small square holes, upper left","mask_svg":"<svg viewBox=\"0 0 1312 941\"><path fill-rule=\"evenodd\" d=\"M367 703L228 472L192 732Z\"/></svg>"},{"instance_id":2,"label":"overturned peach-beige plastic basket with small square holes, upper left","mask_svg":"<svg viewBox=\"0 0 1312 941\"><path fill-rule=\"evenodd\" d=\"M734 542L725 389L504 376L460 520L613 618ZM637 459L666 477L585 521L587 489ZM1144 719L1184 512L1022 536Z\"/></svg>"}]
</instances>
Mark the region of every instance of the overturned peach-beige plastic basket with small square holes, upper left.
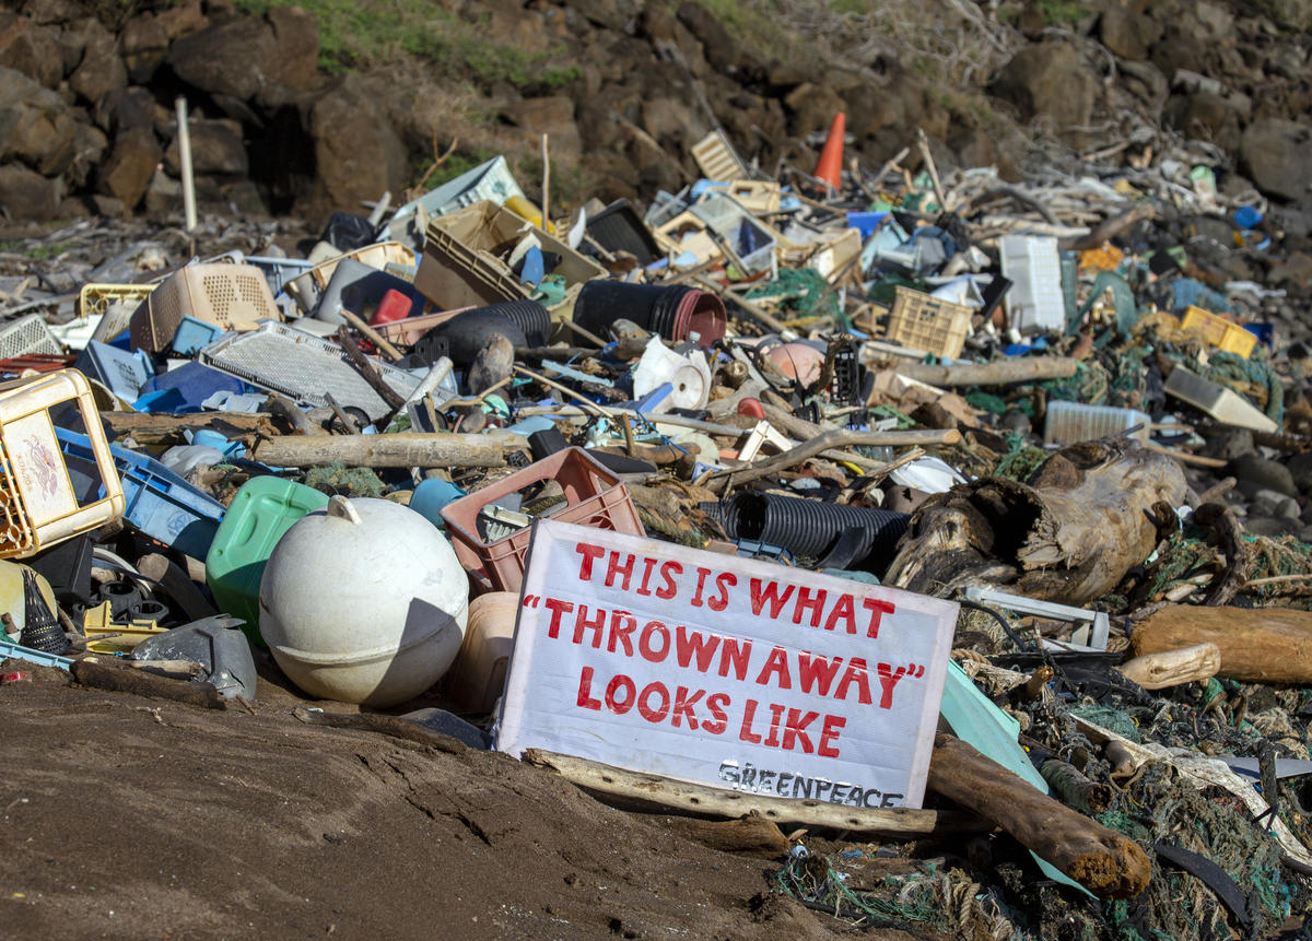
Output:
<instances>
[{"instance_id":1,"label":"overturned peach-beige plastic basket with small square holes, upper left","mask_svg":"<svg viewBox=\"0 0 1312 941\"><path fill-rule=\"evenodd\" d=\"M269 282L255 265L186 265L140 303L129 329L133 346L163 353L182 317L218 324L224 330L253 329L258 320L282 320Z\"/></svg>"}]
</instances>

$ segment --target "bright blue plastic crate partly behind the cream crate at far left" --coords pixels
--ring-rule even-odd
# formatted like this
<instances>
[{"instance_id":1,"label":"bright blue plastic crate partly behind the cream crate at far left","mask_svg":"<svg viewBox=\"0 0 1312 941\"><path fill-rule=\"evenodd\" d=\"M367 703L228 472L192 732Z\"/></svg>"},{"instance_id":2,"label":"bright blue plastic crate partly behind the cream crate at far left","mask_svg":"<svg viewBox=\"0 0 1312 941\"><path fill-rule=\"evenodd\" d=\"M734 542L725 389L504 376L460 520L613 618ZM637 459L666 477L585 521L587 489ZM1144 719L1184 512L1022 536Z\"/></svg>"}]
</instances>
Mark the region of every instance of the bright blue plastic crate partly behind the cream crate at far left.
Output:
<instances>
[{"instance_id":1,"label":"bright blue plastic crate partly behind the cream crate at far left","mask_svg":"<svg viewBox=\"0 0 1312 941\"><path fill-rule=\"evenodd\" d=\"M100 478L94 476L94 455L85 435L67 429L55 429L64 464L79 497L94 489L98 494ZM123 482L127 509L123 519L151 539L186 553L192 558L205 558L214 541L214 533L223 522L226 507L206 493L188 484L182 477L157 460L109 446L114 467Z\"/></svg>"}]
</instances>

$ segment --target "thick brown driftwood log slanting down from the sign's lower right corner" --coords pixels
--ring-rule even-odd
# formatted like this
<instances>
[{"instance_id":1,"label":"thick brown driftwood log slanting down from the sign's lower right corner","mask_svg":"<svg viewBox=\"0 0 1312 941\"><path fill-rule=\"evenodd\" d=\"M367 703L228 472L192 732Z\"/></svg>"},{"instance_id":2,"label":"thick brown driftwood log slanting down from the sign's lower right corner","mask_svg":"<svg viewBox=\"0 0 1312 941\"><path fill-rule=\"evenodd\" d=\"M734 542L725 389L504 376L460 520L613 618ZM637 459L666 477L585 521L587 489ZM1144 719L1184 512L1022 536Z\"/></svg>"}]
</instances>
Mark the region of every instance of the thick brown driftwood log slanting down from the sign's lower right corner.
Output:
<instances>
[{"instance_id":1,"label":"thick brown driftwood log slanting down from the sign's lower right corner","mask_svg":"<svg viewBox=\"0 0 1312 941\"><path fill-rule=\"evenodd\" d=\"M1148 855L1128 836L1054 801L951 735L934 739L929 789L988 818L1098 898L1131 898L1152 878Z\"/></svg>"}]
</instances>

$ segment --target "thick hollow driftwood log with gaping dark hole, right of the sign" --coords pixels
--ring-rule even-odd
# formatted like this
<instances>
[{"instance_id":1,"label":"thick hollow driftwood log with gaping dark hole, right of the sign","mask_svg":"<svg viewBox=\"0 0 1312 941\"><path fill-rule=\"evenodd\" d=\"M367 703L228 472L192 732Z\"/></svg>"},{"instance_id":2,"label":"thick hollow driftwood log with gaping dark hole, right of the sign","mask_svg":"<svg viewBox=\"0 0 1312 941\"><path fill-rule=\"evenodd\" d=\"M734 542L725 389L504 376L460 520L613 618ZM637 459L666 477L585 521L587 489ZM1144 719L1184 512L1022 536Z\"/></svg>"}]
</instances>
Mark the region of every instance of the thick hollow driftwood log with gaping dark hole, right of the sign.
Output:
<instances>
[{"instance_id":1,"label":"thick hollow driftwood log with gaping dark hole, right of the sign","mask_svg":"<svg viewBox=\"0 0 1312 941\"><path fill-rule=\"evenodd\" d=\"M938 596L994 585L1084 604L1148 558L1185 494L1179 465L1134 442L1072 444L1026 484L987 477L930 497L884 581Z\"/></svg>"}]
</instances>

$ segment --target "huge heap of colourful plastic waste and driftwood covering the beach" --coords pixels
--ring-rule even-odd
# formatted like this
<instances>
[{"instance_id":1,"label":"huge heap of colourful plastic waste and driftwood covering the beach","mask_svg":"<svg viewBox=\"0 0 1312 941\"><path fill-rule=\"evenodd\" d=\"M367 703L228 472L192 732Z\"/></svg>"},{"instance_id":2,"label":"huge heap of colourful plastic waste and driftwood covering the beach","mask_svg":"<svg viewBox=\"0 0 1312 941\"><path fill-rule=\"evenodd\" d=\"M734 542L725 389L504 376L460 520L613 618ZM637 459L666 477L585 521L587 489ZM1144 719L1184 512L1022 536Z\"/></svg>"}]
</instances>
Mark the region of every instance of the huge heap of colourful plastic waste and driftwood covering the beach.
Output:
<instances>
[{"instance_id":1,"label":"huge heap of colourful plastic waste and driftwood covering the beach","mask_svg":"<svg viewBox=\"0 0 1312 941\"><path fill-rule=\"evenodd\" d=\"M543 219L493 160L303 257L216 223L190 261L108 223L47 237L58 275L7 256L7 655L413 701L485 744L535 520L883 582L962 600L954 734L1152 878L830 832L779 893L971 938L1307 931L1305 256L1206 153L1014 185L842 170L834 134L779 180L712 135L741 176L647 207Z\"/></svg>"}]
</instances>

